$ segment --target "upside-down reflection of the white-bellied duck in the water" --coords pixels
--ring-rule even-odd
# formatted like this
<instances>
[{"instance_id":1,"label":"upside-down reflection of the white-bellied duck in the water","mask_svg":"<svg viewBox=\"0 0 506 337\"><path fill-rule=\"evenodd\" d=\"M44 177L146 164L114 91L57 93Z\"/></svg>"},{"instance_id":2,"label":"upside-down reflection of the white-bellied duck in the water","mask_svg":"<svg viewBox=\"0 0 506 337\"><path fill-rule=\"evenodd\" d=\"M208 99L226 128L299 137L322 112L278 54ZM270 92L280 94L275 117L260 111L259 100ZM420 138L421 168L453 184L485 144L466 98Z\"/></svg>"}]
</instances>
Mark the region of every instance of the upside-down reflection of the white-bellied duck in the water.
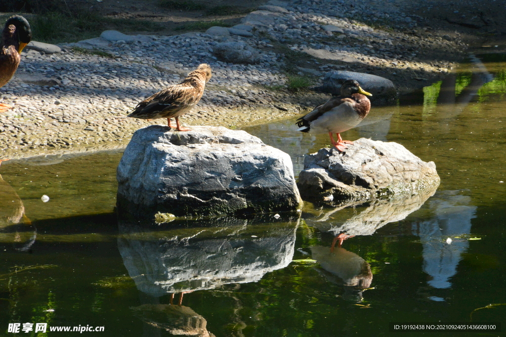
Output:
<instances>
[{"instance_id":1,"label":"upside-down reflection of the white-bellied duck in the water","mask_svg":"<svg viewBox=\"0 0 506 337\"><path fill-rule=\"evenodd\" d=\"M345 301L362 302L362 292L372 282L371 267L362 257L342 247L314 246L311 253L320 263L320 273L330 282L344 286Z\"/></svg>"}]
</instances>

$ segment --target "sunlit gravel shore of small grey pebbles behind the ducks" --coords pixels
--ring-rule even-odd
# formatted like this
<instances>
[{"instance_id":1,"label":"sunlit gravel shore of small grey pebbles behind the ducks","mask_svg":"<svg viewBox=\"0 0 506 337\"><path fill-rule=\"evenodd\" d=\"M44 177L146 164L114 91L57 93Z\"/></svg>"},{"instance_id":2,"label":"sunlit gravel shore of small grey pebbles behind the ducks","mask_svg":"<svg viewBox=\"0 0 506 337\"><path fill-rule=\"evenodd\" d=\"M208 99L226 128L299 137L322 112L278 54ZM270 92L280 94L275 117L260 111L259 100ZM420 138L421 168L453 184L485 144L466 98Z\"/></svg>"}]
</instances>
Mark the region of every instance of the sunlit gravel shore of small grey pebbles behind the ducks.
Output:
<instances>
[{"instance_id":1,"label":"sunlit gravel shore of small grey pebbles behind the ducks","mask_svg":"<svg viewBox=\"0 0 506 337\"><path fill-rule=\"evenodd\" d=\"M126 118L135 105L200 63L212 67L213 78L182 124L237 128L296 116L328 98L280 89L287 68L312 78L314 87L329 70L368 72L392 80L402 93L442 78L462 58L466 44L458 35L420 30L423 17L385 3L271 1L244 19L255 27L250 37L190 32L91 42L98 48L91 53L75 48L86 43L60 45L62 52L51 55L29 50L17 76L0 88L0 101L14 106L0 115L0 159L122 147L135 130L166 125ZM274 19L255 21L255 15ZM394 29L383 30L385 22ZM260 63L219 61L213 48L224 41L247 43L259 51Z\"/></svg>"}]
</instances>

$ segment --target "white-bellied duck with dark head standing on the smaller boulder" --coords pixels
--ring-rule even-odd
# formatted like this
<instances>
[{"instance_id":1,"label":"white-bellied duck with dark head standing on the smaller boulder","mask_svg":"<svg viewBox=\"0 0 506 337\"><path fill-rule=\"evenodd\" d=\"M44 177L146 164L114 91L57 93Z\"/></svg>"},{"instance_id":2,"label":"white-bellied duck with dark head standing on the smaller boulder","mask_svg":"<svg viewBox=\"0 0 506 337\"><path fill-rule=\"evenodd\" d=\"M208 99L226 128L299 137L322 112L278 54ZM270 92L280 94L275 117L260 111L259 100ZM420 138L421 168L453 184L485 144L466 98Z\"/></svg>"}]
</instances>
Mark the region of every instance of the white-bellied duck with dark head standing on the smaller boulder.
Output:
<instances>
[{"instance_id":1,"label":"white-bellied duck with dark head standing on the smaller boulder","mask_svg":"<svg viewBox=\"0 0 506 337\"><path fill-rule=\"evenodd\" d=\"M297 120L300 126L297 131L326 133L330 141L338 151L343 152L345 144L352 141L343 140L340 133L357 126L369 113L371 102L364 96L372 94L360 88L355 80L347 80L341 85L341 96L330 98L325 104L314 108L309 114ZM332 137L332 133L338 135L338 141Z\"/></svg>"}]
</instances>

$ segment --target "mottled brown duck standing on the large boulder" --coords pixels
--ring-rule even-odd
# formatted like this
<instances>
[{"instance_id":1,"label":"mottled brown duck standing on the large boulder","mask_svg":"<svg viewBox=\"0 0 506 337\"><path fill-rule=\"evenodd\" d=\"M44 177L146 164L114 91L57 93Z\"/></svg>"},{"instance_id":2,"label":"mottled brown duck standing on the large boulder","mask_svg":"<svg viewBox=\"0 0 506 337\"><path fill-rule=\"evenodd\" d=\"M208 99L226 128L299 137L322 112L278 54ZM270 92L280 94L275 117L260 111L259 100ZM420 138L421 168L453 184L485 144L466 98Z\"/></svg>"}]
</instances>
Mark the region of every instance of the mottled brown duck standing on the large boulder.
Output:
<instances>
[{"instance_id":1,"label":"mottled brown duck standing on the large boulder","mask_svg":"<svg viewBox=\"0 0 506 337\"><path fill-rule=\"evenodd\" d=\"M167 87L160 92L146 98L135 107L134 111L126 117L140 119L166 118L167 125L171 125L171 118L176 119L176 130L190 131L179 125L179 116L190 111L200 100L204 93L205 84L211 78L211 67L200 64L179 84Z\"/></svg>"}]
</instances>

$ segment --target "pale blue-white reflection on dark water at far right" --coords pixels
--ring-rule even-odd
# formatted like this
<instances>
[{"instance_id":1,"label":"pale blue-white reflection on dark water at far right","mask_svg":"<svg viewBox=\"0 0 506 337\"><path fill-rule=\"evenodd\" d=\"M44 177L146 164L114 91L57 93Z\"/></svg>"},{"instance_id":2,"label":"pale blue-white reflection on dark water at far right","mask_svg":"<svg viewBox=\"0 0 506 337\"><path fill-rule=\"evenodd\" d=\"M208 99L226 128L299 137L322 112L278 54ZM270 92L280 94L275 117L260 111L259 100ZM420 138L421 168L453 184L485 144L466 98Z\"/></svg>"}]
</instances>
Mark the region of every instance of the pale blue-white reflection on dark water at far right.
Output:
<instances>
[{"instance_id":1,"label":"pale blue-white reflection on dark water at far right","mask_svg":"<svg viewBox=\"0 0 506 337\"><path fill-rule=\"evenodd\" d=\"M471 219L477 207L470 203L469 196L459 195L458 191L444 191L428 203L434 216L413 224L412 232L420 237L424 247L423 270L432 277L427 283L434 288L451 287L449 278L456 274L461 254L469 247L467 239L454 237L471 233ZM447 238L452 241L447 243Z\"/></svg>"}]
</instances>

